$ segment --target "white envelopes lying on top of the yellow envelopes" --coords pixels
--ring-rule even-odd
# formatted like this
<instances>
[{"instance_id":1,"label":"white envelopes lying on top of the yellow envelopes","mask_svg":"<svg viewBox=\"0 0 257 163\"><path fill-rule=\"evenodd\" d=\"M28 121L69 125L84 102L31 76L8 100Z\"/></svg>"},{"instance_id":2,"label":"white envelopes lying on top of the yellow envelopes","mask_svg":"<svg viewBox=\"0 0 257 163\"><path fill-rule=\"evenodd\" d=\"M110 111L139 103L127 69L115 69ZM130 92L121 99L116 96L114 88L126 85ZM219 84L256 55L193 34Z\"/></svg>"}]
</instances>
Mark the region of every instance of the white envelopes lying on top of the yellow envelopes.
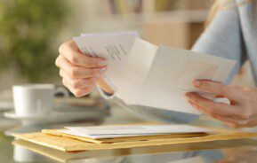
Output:
<instances>
[{"instance_id":1,"label":"white envelopes lying on top of the yellow envelopes","mask_svg":"<svg viewBox=\"0 0 257 163\"><path fill-rule=\"evenodd\" d=\"M147 125L147 126L96 126L66 127L60 132L90 138L114 138L128 136L153 136L167 134L213 133L212 129L189 125Z\"/></svg>"}]
</instances>

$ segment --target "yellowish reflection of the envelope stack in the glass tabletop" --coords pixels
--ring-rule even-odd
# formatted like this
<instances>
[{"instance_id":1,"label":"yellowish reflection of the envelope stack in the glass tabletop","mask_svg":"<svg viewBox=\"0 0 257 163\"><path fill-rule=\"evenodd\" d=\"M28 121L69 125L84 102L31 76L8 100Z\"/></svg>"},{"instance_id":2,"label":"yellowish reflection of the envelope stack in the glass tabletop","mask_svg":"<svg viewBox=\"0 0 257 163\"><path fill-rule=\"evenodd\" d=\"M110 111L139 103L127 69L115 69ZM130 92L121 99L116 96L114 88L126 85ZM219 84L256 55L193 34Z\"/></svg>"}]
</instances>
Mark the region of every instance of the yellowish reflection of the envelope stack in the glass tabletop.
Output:
<instances>
[{"instance_id":1,"label":"yellowish reflection of the envelope stack in the glass tabletop","mask_svg":"<svg viewBox=\"0 0 257 163\"><path fill-rule=\"evenodd\" d=\"M230 141L213 141L196 144L173 144L150 147L137 147L132 149L64 152L41 145L18 140L14 144L20 145L30 151L40 153L52 161L74 163L132 163L132 162L216 162L226 159L240 158L246 162L247 155L257 153L257 141L253 139L240 139ZM256 151L254 151L256 150ZM234 151L231 153L231 151ZM237 151L237 152L236 152ZM244 151L244 152L243 152ZM251 151L251 152L247 152ZM241 154L237 154L241 153ZM245 153L245 154L242 154ZM253 159L254 160L254 159Z\"/></svg>"}]
</instances>

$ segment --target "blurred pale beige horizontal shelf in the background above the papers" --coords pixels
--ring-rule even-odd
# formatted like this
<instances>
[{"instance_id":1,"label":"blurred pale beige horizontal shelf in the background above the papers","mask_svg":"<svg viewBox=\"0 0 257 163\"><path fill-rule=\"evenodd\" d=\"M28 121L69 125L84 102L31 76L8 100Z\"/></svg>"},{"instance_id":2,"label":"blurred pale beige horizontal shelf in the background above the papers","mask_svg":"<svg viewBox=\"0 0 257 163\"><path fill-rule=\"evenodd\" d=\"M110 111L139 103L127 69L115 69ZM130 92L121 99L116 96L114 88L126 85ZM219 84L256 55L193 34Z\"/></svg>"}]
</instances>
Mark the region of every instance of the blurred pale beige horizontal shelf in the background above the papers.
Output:
<instances>
[{"instance_id":1,"label":"blurred pale beige horizontal shelf in the background above the papers","mask_svg":"<svg viewBox=\"0 0 257 163\"><path fill-rule=\"evenodd\" d=\"M86 30L100 30L102 28L141 27L158 23L194 23L204 22L208 10L188 10L172 12L142 12L125 15L94 16L86 19Z\"/></svg>"}]
</instances>

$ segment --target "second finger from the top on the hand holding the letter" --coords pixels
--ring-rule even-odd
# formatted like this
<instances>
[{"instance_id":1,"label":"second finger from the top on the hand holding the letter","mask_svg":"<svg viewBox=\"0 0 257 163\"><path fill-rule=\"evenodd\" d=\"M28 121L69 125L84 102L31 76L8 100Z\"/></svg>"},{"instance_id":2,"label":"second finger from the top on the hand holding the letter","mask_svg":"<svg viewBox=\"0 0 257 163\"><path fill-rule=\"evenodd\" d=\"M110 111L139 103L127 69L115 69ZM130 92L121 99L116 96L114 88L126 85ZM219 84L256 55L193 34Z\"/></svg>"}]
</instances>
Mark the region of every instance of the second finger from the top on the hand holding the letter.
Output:
<instances>
[{"instance_id":1,"label":"second finger from the top on the hand holding the letter","mask_svg":"<svg viewBox=\"0 0 257 163\"><path fill-rule=\"evenodd\" d=\"M71 79L100 77L107 71L107 67L85 68L83 66L73 66L63 57L60 58L60 69L65 71Z\"/></svg>"}]
</instances>

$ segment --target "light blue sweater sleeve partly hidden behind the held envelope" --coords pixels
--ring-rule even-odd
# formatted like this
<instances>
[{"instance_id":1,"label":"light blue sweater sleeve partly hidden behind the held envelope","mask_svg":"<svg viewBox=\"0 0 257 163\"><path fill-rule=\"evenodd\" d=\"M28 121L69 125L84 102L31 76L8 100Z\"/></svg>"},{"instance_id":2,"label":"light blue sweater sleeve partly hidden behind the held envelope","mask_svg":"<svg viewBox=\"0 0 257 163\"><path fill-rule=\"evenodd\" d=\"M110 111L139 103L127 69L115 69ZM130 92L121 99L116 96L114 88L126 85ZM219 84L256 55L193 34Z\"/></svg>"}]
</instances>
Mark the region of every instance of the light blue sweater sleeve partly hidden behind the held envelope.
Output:
<instances>
[{"instance_id":1,"label":"light blue sweater sleeve partly hidden behind the held envelope","mask_svg":"<svg viewBox=\"0 0 257 163\"><path fill-rule=\"evenodd\" d=\"M245 55L242 55L244 54L244 43L241 39L237 7L217 12L212 23L199 37L192 50L221 58L237 60L237 65L234 67L232 73L229 74L227 82L230 82L233 76L237 74L239 67L245 61ZM146 119L188 123L198 118L197 115L189 113L179 113L141 105L125 105L124 102L115 95L108 96L102 92L101 89L100 92L103 97L111 98L116 104Z\"/></svg>"}]
</instances>

